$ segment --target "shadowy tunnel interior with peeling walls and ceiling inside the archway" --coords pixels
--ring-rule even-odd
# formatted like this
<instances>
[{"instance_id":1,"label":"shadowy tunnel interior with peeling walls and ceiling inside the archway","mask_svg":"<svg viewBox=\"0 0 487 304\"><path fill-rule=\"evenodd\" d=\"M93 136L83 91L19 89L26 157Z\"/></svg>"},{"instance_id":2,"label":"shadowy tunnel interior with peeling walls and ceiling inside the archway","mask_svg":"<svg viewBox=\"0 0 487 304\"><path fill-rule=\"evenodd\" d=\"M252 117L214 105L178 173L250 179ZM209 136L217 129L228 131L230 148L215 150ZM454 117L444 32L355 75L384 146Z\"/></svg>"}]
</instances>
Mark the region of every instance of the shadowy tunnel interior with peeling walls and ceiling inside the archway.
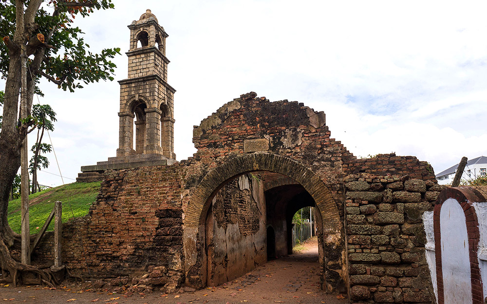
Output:
<instances>
[{"instance_id":1,"label":"shadowy tunnel interior with peeling walls and ceiling inside the archway","mask_svg":"<svg viewBox=\"0 0 487 304\"><path fill-rule=\"evenodd\" d=\"M316 207L313 197L281 174L258 171L228 180L211 198L206 216L206 285L292 254L292 219L303 207Z\"/></svg>"}]
</instances>

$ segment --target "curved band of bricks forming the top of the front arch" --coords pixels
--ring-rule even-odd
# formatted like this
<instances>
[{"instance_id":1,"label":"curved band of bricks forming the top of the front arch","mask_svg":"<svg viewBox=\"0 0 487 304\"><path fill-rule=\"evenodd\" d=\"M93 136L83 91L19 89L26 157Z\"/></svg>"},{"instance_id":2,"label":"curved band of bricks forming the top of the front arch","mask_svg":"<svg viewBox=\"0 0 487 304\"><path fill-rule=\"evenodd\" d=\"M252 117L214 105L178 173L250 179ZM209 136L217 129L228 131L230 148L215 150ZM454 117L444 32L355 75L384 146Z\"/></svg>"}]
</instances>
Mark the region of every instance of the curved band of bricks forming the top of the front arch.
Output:
<instances>
[{"instance_id":1,"label":"curved band of bricks forming the top of the front arch","mask_svg":"<svg viewBox=\"0 0 487 304\"><path fill-rule=\"evenodd\" d=\"M337 204L321 179L298 161L270 153L253 153L228 158L222 165L209 171L189 200L185 223L187 227L198 227L204 224L209 208L208 198L218 191L225 181L259 170L280 173L299 182L314 198L323 218L324 232L340 231Z\"/></svg>"}]
</instances>

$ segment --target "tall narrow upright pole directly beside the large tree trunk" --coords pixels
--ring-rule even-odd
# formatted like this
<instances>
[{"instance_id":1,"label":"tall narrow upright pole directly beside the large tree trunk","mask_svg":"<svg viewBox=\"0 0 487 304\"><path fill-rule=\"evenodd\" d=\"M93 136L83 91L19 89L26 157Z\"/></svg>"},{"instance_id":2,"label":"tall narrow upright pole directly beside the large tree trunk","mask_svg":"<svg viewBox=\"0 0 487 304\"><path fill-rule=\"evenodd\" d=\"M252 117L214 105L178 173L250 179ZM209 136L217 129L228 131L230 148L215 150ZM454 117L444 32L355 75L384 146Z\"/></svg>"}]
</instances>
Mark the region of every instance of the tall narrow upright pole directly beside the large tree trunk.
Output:
<instances>
[{"instance_id":1,"label":"tall narrow upright pole directly beside the large tree trunk","mask_svg":"<svg viewBox=\"0 0 487 304\"><path fill-rule=\"evenodd\" d=\"M27 54L26 46L21 45L20 54L20 118L27 118ZM27 135L20 146L20 192L21 192L21 260L30 265L30 227L29 227L29 171Z\"/></svg>"}]
</instances>

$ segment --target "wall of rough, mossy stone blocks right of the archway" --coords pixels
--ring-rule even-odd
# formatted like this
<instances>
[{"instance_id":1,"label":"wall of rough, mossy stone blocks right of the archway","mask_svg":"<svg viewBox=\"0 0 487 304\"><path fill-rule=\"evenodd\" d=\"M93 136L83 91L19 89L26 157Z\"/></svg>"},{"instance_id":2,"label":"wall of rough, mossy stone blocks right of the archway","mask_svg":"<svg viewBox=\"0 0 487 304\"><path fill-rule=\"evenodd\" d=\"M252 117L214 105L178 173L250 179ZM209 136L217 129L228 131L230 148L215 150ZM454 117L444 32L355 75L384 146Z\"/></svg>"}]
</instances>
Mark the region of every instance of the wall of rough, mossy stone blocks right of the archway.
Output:
<instances>
[{"instance_id":1,"label":"wall of rough, mossy stone blocks right of the archway","mask_svg":"<svg viewBox=\"0 0 487 304\"><path fill-rule=\"evenodd\" d=\"M370 174L347 177L345 187L351 300L431 303L421 216L433 209L442 187Z\"/></svg>"}]
</instances>

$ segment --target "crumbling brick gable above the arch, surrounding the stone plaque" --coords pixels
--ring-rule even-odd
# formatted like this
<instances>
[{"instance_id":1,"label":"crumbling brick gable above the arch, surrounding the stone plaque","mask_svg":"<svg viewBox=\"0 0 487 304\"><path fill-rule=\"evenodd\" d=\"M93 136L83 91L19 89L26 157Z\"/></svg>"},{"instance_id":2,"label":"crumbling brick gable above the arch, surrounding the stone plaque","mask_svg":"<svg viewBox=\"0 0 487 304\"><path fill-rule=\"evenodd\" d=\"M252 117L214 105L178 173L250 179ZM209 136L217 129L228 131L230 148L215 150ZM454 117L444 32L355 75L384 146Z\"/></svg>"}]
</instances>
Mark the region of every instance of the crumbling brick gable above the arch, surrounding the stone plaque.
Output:
<instances>
[{"instance_id":1,"label":"crumbling brick gable above the arch, surrounding the stone plaque","mask_svg":"<svg viewBox=\"0 0 487 304\"><path fill-rule=\"evenodd\" d=\"M269 102L255 96L249 93L234 99L195 127L193 143L198 152L182 161L197 165L189 174L201 177L228 157L244 154L244 140L267 139L269 152L304 163L322 177L337 203L342 204L342 166L356 158L330 137L325 114L297 101ZM187 181L186 187L193 186L192 180Z\"/></svg>"}]
</instances>

